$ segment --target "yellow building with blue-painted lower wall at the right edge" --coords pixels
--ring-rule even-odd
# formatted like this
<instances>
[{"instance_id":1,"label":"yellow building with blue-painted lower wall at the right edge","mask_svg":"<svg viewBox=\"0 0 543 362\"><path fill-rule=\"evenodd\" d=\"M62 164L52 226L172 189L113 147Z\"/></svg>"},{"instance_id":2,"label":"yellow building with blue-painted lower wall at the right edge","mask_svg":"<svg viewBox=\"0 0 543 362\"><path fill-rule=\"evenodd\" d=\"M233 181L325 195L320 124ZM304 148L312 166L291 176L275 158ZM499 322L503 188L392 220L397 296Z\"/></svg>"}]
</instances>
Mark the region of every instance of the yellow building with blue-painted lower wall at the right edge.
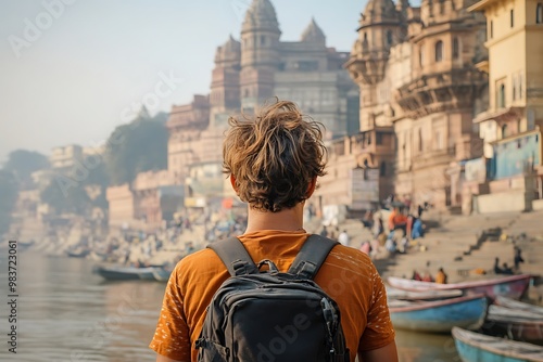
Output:
<instances>
[{"instance_id":1,"label":"yellow building with blue-painted lower wall at the right edge","mask_svg":"<svg viewBox=\"0 0 543 362\"><path fill-rule=\"evenodd\" d=\"M491 159L492 194L473 206L482 212L543 207L532 204L543 193L543 1L482 0L469 11L487 17L489 60L478 67L489 74L489 108L473 121Z\"/></svg>"}]
</instances>

